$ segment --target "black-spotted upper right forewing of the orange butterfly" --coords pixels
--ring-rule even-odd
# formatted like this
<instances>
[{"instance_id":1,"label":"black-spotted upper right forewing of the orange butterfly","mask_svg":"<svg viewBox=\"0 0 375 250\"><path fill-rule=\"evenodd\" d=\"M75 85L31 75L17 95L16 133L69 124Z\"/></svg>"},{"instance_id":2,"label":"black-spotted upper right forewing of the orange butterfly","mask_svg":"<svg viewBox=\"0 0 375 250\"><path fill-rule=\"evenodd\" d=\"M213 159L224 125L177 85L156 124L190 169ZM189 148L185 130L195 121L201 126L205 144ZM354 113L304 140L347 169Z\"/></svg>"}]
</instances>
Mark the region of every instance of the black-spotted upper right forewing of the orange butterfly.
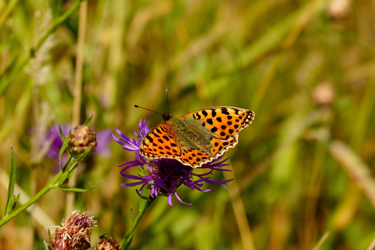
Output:
<instances>
[{"instance_id":1,"label":"black-spotted upper right forewing of the orange butterfly","mask_svg":"<svg viewBox=\"0 0 375 250\"><path fill-rule=\"evenodd\" d=\"M252 123L254 112L236 107L215 106L198 109L181 118L214 138L231 141Z\"/></svg>"}]
</instances>

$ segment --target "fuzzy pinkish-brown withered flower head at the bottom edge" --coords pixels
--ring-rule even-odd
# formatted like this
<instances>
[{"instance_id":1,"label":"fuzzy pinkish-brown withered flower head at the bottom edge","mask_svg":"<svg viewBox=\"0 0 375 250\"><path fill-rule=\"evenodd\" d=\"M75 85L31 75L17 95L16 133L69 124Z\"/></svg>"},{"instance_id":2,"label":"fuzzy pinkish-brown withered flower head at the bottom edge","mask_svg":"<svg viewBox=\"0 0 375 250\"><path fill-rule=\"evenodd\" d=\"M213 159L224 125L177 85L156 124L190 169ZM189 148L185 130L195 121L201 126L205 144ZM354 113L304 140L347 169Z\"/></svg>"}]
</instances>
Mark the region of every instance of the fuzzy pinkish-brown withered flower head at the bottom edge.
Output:
<instances>
[{"instance_id":1,"label":"fuzzy pinkish-brown withered flower head at the bottom edge","mask_svg":"<svg viewBox=\"0 0 375 250\"><path fill-rule=\"evenodd\" d=\"M49 239L48 249L50 250L86 250L91 247L91 229L96 225L94 216L89 216L86 211L73 211L68 217L63 219L60 226ZM54 226L49 226L51 228Z\"/></svg>"}]
</instances>

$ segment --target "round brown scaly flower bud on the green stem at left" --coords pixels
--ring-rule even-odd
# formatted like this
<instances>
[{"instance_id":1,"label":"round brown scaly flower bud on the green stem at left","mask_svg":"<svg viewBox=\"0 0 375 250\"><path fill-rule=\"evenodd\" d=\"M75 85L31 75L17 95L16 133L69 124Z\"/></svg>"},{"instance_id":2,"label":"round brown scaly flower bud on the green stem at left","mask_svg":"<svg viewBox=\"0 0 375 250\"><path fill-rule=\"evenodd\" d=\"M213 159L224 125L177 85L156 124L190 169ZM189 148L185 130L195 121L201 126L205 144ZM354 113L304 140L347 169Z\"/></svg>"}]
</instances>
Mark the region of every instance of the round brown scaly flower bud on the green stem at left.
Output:
<instances>
[{"instance_id":1,"label":"round brown scaly flower bud on the green stem at left","mask_svg":"<svg viewBox=\"0 0 375 250\"><path fill-rule=\"evenodd\" d=\"M91 147L91 152L96 150L96 134L89 126L78 125L69 132L69 149L74 155L80 155Z\"/></svg>"}]
</instances>

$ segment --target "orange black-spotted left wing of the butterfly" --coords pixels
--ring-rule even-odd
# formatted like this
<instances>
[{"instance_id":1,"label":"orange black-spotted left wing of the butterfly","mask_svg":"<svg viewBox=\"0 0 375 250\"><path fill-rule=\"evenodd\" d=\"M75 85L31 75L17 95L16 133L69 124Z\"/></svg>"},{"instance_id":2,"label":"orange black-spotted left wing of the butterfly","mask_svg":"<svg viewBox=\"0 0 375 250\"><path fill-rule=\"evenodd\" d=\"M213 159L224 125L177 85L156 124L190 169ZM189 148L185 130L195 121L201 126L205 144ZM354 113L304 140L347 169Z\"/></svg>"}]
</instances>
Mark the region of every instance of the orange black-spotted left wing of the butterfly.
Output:
<instances>
[{"instance_id":1,"label":"orange black-spotted left wing of the butterfly","mask_svg":"<svg viewBox=\"0 0 375 250\"><path fill-rule=\"evenodd\" d=\"M141 141L139 152L147 159L181 157L173 128L166 123L155 126L147 132Z\"/></svg>"}]
</instances>

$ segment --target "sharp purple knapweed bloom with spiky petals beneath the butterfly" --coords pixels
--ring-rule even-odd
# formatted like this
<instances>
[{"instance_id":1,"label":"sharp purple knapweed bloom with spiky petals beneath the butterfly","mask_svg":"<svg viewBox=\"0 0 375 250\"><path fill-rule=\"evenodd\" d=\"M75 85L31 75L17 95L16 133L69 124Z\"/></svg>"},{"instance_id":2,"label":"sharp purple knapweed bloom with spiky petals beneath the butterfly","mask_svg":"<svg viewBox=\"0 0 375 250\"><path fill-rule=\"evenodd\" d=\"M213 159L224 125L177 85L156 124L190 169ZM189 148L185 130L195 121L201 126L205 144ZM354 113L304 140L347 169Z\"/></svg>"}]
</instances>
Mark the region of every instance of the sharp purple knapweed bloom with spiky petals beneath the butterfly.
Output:
<instances>
[{"instance_id":1,"label":"sharp purple knapweed bloom with spiky petals beneath the butterfly","mask_svg":"<svg viewBox=\"0 0 375 250\"><path fill-rule=\"evenodd\" d=\"M201 192L210 191L210 189L202 189L204 183L221 185L225 187L225 183L233 180L211 180L210 175L212 175L214 170L218 171L229 171L228 169L222 169L220 167L228 166L224 162L228 159L221 160L223 156L218 159L214 159L212 162L206 163L199 167L198 169L206 169L207 172L204 174L197 174L193 172L193 168L190 166L183 165L181 162L175 159L169 158L160 158L160 159L145 159L141 154L139 154L139 146L141 145L141 139L146 135L149 128L147 126L147 118L142 122L139 121L137 133L134 130L136 139L130 139L120 130L117 130L117 133L120 137L114 136L113 138L118 142L118 144L123 146L124 150L134 151L135 160L125 162L119 166L124 166L121 170L121 175L123 177L136 180L132 183L120 183L121 186L133 187L137 185L142 185L139 193L142 192L144 187L151 190L150 196L156 198L159 195L168 196L168 204L172 205L172 195L175 195L178 201L183 204L191 205L183 202L180 197L177 195L177 188L181 185L190 187L190 189L199 190ZM124 172L132 167L138 166L141 170L141 166L145 166L144 175L130 175L125 174ZM226 188L226 187L225 187Z\"/></svg>"}]
</instances>

